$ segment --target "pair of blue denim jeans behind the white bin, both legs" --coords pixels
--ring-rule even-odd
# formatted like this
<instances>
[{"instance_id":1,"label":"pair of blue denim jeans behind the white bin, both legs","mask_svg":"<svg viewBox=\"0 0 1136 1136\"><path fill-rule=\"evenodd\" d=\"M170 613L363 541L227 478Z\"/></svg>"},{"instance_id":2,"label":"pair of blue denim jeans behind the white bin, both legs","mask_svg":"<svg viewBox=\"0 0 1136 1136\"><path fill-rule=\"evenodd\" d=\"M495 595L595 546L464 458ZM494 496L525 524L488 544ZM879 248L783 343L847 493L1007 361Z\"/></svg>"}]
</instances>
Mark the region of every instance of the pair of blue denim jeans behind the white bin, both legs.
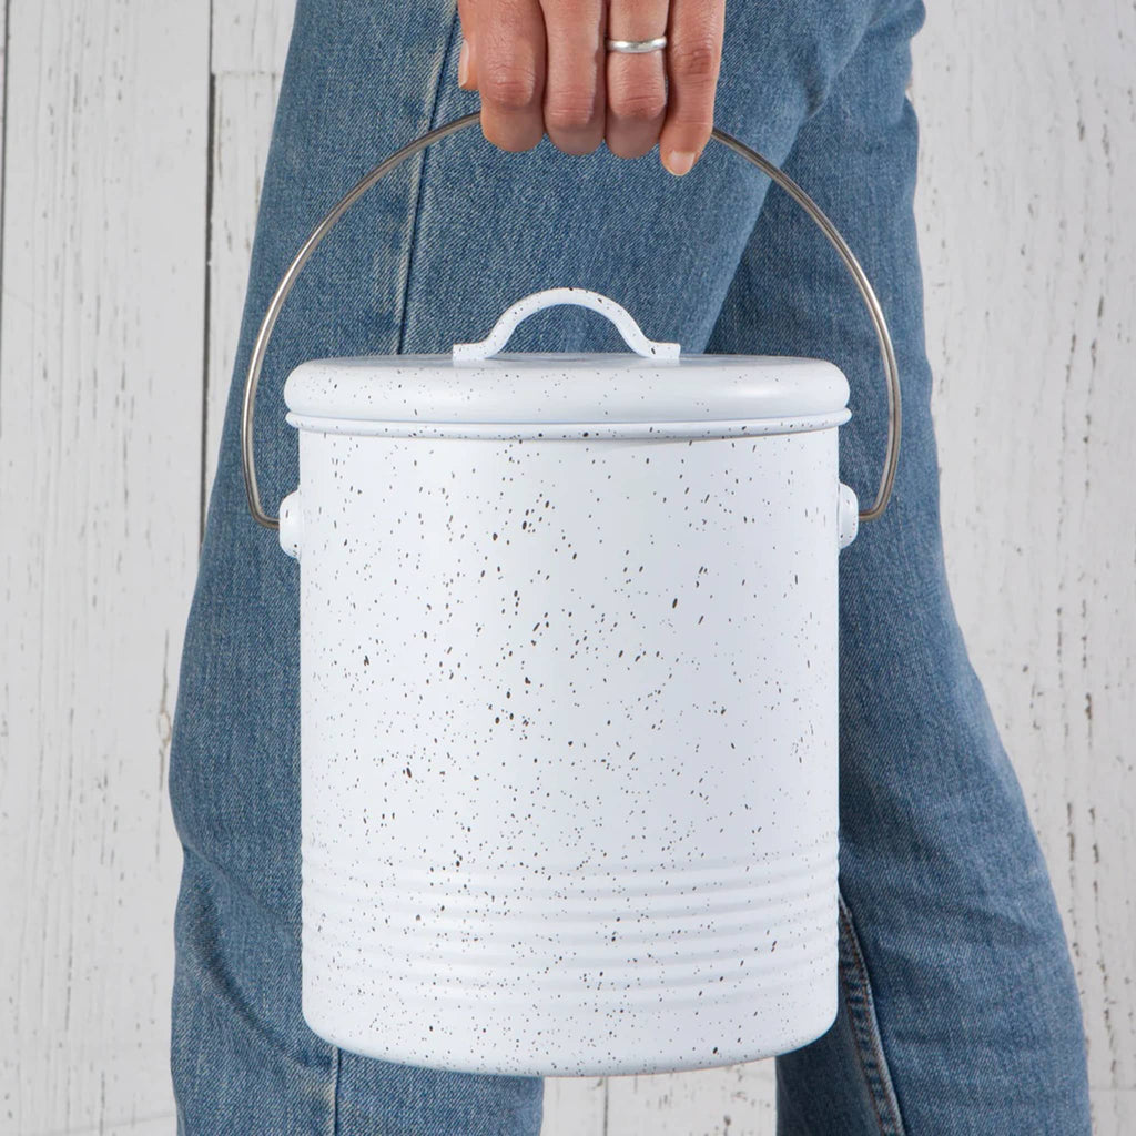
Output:
<instances>
[{"instance_id":1,"label":"pair of blue denim jeans behind the white bin, both legs","mask_svg":"<svg viewBox=\"0 0 1136 1136\"><path fill-rule=\"evenodd\" d=\"M895 336L903 454L885 517L841 558L841 997L777 1062L783 1134L1087 1134L1080 1010L1050 882L955 623L943 566L905 86L918 0L733 0L718 125L784 165L863 261ZM264 184L237 379L287 261L356 178L476 109L452 0L300 0ZM576 284L690 352L816 356L852 386L841 476L870 500L885 400L832 250L711 144L506 154L444 140L364 199L300 279L258 417L267 504L296 484L282 386L303 359L445 351L513 300ZM620 350L556 309L513 350ZM245 508L233 387L190 616L170 795L185 849L173 1071L191 1134L532 1134L542 1084L416 1069L300 1013L298 566Z\"/></svg>"}]
</instances>

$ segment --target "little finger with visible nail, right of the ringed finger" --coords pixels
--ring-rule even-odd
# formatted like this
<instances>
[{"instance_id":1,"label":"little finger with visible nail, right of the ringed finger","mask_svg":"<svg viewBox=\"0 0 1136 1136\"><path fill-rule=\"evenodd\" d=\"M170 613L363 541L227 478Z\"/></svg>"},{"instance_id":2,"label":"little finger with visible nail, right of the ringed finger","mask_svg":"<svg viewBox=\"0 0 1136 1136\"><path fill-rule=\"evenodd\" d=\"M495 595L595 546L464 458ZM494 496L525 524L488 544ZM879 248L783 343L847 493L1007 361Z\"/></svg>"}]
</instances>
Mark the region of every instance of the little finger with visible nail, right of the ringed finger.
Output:
<instances>
[{"instance_id":1,"label":"little finger with visible nail, right of the ringed finger","mask_svg":"<svg viewBox=\"0 0 1136 1136\"><path fill-rule=\"evenodd\" d=\"M667 28L667 117L659 157L676 175L698 161L713 128L725 3L671 0Z\"/></svg>"}]
</instances>

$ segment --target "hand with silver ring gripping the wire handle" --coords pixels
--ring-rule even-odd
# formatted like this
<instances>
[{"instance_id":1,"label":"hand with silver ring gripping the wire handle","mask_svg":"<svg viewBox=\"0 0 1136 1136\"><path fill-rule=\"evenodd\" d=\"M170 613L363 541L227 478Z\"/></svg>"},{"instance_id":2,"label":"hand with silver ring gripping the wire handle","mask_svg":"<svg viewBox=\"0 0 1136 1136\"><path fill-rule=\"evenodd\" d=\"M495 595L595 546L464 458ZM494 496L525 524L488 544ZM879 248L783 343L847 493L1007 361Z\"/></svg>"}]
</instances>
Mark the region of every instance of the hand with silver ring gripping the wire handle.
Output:
<instances>
[{"instance_id":1,"label":"hand with silver ring gripping the wire handle","mask_svg":"<svg viewBox=\"0 0 1136 1136\"><path fill-rule=\"evenodd\" d=\"M482 95L482 130L503 150L548 132L565 153L601 141L620 158L657 142L685 174L713 126L726 0L458 0L458 82ZM662 50L608 51L604 40L667 36Z\"/></svg>"}]
</instances>

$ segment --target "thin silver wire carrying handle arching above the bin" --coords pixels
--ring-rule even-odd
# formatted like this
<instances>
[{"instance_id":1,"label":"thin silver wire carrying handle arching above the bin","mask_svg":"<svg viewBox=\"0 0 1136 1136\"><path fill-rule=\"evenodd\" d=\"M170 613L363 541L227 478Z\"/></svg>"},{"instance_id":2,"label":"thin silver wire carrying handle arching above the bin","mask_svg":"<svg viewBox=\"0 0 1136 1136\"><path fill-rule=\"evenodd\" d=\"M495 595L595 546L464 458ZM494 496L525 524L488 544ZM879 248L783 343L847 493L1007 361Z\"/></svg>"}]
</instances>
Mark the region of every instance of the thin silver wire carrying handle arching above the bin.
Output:
<instances>
[{"instance_id":1,"label":"thin silver wire carrying handle arching above the bin","mask_svg":"<svg viewBox=\"0 0 1136 1136\"><path fill-rule=\"evenodd\" d=\"M273 294L265 318L260 321L260 329L257 332L257 340L252 348L252 358L249 361L248 376L244 381L244 401L241 404L241 460L244 465L244 490L249 498L249 511L252 519L265 528L278 529L279 518L269 517L260 504L260 488L257 485L257 463L253 450L252 423L257 404L257 385L260 382L260 371L264 369L265 354L268 351L268 341L272 339L279 318L284 301L289 298L295 284L296 277L303 270L304 265L311 259L312 253L319 248L320 242L335 227L340 218L361 198L381 177L386 176L396 166L401 166L408 158L414 157L420 150L425 150L432 142L437 142L450 134L457 134L481 120L481 112L475 110L452 122L443 123L432 131L420 135L412 142L408 142L401 150L396 150L381 161L369 174L360 178L343 199L335 204L324 219L311 231L311 235L303 242L300 251L295 254L292 264L281 277L279 284ZM787 174L778 169L768 158L763 158L757 150L751 150L744 142L719 131L717 127L711 132L711 137L721 142L728 150L744 158L752 166L757 166L770 181L776 182L817 224L817 227L828 239L828 243L840 253L857 287L860 296L868 309L868 315L876 328L876 337L879 340L879 353L884 360L884 369L887 373L887 452L884 460L884 473L879 481L879 488L876 491L876 500L870 509L860 513L860 520L875 520L884 511L888 499L892 495L892 486L895 483L895 470L900 461L900 427L902 423L902 408L900 402L900 373L895 361L895 349L892 345L892 336L887 331L887 321L884 319L884 310L876 299L871 284L864 270L860 267L860 261L853 256L847 242L841 236L836 226L828 219L820 206L801 189L796 182ZM623 310L623 309L620 309ZM629 318L629 317L628 317Z\"/></svg>"}]
</instances>

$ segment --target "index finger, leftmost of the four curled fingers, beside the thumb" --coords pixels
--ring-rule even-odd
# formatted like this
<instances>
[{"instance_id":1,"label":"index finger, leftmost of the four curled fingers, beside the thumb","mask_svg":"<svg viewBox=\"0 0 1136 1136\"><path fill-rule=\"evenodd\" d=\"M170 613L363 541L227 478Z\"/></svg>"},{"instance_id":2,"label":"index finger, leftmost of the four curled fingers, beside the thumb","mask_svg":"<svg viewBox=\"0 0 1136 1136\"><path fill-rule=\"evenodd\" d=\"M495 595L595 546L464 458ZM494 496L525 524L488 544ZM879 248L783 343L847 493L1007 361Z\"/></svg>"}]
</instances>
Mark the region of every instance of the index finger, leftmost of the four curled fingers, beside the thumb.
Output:
<instances>
[{"instance_id":1,"label":"index finger, leftmost of the four curled fingers, beside the thumb","mask_svg":"<svg viewBox=\"0 0 1136 1136\"><path fill-rule=\"evenodd\" d=\"M482 130L502 150L544 136L544 17L537 0L479 0L474 32Z\"/></svg>"}]
</instances>

